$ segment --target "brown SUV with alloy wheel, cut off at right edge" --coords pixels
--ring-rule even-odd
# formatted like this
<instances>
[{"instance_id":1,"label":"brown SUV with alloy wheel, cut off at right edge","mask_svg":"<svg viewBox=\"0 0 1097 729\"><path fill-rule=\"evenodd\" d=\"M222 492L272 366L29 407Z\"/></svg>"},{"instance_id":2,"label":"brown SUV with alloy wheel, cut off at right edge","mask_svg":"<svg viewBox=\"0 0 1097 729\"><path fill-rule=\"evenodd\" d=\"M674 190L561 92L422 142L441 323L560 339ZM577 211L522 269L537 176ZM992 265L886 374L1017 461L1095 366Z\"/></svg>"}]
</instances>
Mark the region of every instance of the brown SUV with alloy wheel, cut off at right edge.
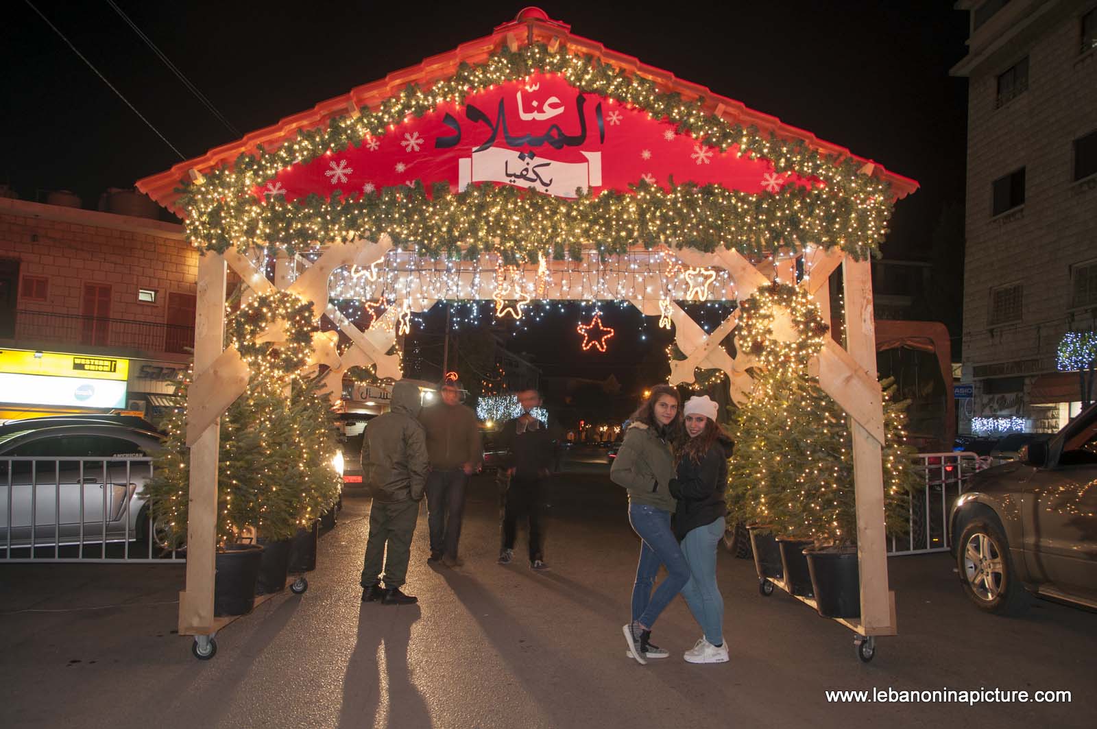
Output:
<instances>
[{"instance_id":1,"label":"brown SUV with alloy wheel, cut off at right edge","mask_svg":"<svg viewBox=\"0 0 1097 729\"><path fill-rule=\"evenodd\" d=\"M1015 614L1030 595L1097 608L1097 404L1018 460L974 474L949 524L980 608Z\"/></svg>"}]
</instances>

